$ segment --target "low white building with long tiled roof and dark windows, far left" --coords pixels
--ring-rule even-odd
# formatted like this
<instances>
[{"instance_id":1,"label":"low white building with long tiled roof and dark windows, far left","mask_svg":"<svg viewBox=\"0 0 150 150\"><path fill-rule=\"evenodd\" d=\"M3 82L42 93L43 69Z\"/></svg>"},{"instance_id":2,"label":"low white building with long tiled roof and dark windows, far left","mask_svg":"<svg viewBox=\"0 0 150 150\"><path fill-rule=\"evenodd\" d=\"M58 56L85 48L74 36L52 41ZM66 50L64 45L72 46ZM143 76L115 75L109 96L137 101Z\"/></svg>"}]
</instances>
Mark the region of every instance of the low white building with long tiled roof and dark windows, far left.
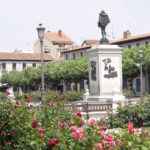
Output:
<instances>
[{"instance_id":1,"label":"low white building with long tiled roof and dark windows, far left","mask_svg":"<svg viewBox=\"0 0 150 150\"><path fill-rule=\"evenodd\" d=\"M44 62L54 60L50 54L44 54ZM22 71L27 67L37 67L41 63L40 53L0 52L0 76L4 72Z\"/></svg>"}]
</instances>

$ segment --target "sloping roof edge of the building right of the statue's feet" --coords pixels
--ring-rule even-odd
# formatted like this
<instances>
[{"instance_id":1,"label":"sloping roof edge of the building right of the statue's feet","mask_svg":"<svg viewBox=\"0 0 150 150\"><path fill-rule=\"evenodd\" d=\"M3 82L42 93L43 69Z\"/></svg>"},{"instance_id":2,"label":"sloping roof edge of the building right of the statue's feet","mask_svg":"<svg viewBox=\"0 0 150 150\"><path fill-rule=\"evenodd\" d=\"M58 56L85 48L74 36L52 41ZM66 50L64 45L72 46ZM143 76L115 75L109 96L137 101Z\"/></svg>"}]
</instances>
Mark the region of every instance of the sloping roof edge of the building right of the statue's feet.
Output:
<instances>
[{"instance_id":1,"label":"sloping roof edge of the building right of the statue's feet","mask_svg":"<svg viewBox=\"0 0 150 150\"><path fill-rule=\"evenodd\" d=\"M150 33L130 36L128 38L122 38L122 39L111 41L110 43L111 44L123 44L123 43L127 43L127 42L143 40L143 39L147 39L147 38L150 38Z\"/></svg>"}]
</instances>

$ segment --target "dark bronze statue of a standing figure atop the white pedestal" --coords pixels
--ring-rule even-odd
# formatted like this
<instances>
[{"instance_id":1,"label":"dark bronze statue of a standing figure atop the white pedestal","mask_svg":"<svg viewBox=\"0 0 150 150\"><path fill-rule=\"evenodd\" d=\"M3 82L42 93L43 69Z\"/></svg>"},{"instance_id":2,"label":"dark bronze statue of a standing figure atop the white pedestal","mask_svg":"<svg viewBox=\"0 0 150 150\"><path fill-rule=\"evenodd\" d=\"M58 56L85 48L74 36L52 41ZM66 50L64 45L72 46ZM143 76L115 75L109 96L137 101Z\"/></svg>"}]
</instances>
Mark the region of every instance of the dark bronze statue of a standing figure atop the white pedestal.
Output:
<instances>
[{"instance_id":1,"label":"dark bronze statue of a standing figure atop the white pedestal","mask_svg":"<svg viewBox=\"0 0 150 150\"><path fill-rule=\"evenodd\" d=\"M101 34L102 39L100 40L100 44L107 44L109 43L107 37L106 37L106 31L105 28L110 23L109 16L102 10L99 14L99 21L98 21L98 27L101 28Z\"/></svg>"}]
</instances>

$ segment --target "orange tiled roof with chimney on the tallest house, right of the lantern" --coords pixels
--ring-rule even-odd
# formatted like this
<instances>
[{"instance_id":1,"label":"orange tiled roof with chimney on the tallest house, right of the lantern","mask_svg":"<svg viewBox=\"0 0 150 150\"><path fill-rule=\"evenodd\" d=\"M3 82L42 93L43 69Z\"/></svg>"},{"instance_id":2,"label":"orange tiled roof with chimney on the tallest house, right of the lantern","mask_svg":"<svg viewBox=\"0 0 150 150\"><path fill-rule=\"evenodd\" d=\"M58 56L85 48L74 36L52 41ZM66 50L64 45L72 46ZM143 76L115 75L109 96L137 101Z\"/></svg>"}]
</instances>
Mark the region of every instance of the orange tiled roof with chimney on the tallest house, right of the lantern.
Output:
<instances>
[{"instance_id":1,"label":"orange tiled roof with chimney on the tallest house, right of the lantern","mask_svg":"<svg viewBox=\"0 0 150 150\"><path fill-rule=\"evenodd\" d=\"M56 44L73 44L72 40L61 30L58 32L46 32L45 39Z\"/></svg>"}]
</instances>

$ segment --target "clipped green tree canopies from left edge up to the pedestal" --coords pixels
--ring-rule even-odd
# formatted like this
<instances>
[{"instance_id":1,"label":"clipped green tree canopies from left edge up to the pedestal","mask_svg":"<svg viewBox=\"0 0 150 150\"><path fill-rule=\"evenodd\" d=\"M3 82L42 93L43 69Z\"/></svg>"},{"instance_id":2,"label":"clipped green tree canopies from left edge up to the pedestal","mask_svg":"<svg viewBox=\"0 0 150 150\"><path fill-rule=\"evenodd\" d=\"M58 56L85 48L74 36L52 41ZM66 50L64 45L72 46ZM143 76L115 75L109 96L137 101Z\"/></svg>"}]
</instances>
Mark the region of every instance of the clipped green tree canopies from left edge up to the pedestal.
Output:
<instances>
[{"instance_id":1,"label":"clipped green tree canopies from left edge up to the pedestal","mask_svg":"<svg viewBox=\"0 0 150 150\"><path fill-rule=\"evenodd\" d=\"M61 62L50 62L44 67L45 83L58 84L62 81L78 82L88 78L88 61L86 58ZM13 87L37 90L41 82L41 68L27 68L23 71L5 73L2 83L9 83Z\"/></svg>"}]
</instances>

